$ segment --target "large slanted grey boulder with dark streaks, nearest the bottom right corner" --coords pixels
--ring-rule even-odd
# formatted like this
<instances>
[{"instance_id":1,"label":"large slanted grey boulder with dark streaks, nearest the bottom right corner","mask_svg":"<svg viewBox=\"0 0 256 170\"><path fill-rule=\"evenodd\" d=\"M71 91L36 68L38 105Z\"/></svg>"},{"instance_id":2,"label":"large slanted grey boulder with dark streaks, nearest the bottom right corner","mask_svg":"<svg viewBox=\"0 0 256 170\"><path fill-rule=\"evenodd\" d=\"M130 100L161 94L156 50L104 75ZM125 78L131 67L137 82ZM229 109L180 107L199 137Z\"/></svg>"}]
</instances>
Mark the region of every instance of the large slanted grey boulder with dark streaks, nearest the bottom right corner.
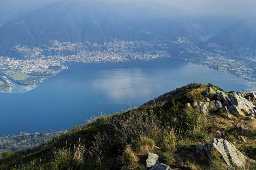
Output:
<instances>
[{"instance_id":1,"label":"large slanted grey boulder with dark streaks, nearest the bottom right corner","mask_svg":"<svg viewBox=\"0 0 256 170\"><path fill-rule=\"evenodd\" d=\"M215 148L224 161L230 166L245 168L246 157L239 152L236 147L227 140L212 138L212 148Z\"/></svg>"}]
</instances>

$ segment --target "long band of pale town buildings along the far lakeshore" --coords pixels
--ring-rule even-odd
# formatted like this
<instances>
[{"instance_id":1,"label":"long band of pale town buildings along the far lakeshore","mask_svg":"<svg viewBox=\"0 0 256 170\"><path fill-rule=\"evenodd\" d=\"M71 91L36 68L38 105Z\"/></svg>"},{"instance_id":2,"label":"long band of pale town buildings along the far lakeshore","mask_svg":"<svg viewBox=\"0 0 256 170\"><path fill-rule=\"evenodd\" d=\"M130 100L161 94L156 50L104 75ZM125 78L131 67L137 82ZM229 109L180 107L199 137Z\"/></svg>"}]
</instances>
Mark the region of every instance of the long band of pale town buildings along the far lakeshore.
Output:
<instances>
[{"instance_id":1,"label":"long band of pale town buildings along the far lakeshore","mask_svg":"<svg viewBox=\"0 0 256 170\"><path fill-rule=\"evenodd\" d=\"M209 50L195 46L184 37L178 37L177 41L121 41L112 39L112 41L105 43L89 41L72 43L54 40L37 47L15 45L13 49L16 53L23 55L25 59L0 57L0 69L19 70L29 74L44 72L50 66L65 69L63 66L65 62L125 62L172 56L236 76L250 75L253 72L252 67L242 65L232 59L230 57L232 51L225 52L221 50L220 45L214 43L207 44L206 48ZM241 51L246 51L246 49L241 48Z\"/></svg>"}]
</instances>

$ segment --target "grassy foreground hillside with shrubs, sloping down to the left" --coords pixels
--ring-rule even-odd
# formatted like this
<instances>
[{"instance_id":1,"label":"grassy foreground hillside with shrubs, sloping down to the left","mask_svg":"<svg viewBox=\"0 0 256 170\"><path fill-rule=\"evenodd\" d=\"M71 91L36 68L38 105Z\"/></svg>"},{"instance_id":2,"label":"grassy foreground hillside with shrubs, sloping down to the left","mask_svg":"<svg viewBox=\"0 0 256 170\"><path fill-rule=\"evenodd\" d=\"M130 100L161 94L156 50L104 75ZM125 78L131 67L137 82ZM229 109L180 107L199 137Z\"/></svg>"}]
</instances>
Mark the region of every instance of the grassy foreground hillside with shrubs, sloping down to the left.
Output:
<instances>
[{"instance_id":1,"label":"grassy foreground hillside with shrubs, sloping down to the left","mask_svg":"<svg viewBox=\"0 0 256 170\"><path fill-rule=\"evenodd\" d=\"M234 93L220 91L210 84L186 85L141 107L78 125L34 149L5 152L0 169L147 169L154 154L162 164L151 169L163 164L165 169L256 169L256 122L247 103L254 106L254 93L237 92L246 106L241 108ZM237 149L232 154L245 156L243 164L231 153L228 164L210 147L212 138L232 143ZM201 146L209 150L198 152Z\"/></svg>"}]
</instances>

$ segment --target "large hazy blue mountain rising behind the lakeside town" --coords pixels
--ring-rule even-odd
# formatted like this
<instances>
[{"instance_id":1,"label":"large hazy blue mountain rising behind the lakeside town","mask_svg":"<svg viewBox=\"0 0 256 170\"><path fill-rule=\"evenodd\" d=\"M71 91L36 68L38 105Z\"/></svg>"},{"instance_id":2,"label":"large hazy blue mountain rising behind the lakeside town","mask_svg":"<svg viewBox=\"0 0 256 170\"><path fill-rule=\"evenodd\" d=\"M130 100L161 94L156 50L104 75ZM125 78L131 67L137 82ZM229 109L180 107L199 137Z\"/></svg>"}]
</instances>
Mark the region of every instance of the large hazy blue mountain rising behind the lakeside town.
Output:
<instances>
[{"instance_id":1,"label":"large hazy blue mountain rising behind the lakeside town","mask_svg":"<svg viewBox=\"0 0 256 170\"><path fill-rule=\"evenodd\" d=\"M62 1L33 11L0 27L0 55L12 55L12 47L36 46L51 40L107 42L119 40L201 40L180 23L166 6L164 12L123 3Z\"/></svg>"}]
</instances>

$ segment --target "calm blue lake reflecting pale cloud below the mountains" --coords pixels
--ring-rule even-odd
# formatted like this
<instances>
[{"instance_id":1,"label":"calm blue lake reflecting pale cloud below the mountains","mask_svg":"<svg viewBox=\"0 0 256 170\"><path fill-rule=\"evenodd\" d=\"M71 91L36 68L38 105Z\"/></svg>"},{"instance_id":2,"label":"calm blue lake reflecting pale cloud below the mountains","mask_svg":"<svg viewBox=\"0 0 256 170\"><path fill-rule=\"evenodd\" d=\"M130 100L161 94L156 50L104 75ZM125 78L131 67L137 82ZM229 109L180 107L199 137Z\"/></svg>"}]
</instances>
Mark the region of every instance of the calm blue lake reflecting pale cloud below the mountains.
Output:
<instances>
[{"instance_id":1,"label":"calm blue lake reflecting pale cloud below the mountains","mask_svg":"<svg viewBox=\"0 0 256 170\"><path fill-rule=\"evenodd\" d=\"M140 106L193 82L209 82L225 91L256 91L244 77L173 58L67 65L68 70L28 92L0 93L0 135L68 129L101 113Z\"/></svg>"}]
</instances>

